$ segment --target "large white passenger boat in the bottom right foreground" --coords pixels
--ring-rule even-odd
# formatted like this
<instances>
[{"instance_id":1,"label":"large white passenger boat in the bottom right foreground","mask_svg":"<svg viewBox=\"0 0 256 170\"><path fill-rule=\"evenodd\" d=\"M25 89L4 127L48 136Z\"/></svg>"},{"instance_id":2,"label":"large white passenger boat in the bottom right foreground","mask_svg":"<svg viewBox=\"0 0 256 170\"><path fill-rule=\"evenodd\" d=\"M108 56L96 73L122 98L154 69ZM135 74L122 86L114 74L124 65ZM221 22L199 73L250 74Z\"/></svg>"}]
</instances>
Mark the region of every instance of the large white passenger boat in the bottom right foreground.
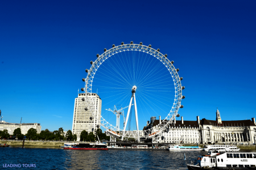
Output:
<instances>
[{"instance_id":1,"label":"large white passenger boat in the bottom right foreground","mask_svg":"<svg viewBox=\"0 0 256 170\"><path fill-rule=\"evenodd\" d=\"M189 170L195 169L256 169L256 152L221 152L203 155L197 162L187 164Z\"/></svg>"}]
</instances>

